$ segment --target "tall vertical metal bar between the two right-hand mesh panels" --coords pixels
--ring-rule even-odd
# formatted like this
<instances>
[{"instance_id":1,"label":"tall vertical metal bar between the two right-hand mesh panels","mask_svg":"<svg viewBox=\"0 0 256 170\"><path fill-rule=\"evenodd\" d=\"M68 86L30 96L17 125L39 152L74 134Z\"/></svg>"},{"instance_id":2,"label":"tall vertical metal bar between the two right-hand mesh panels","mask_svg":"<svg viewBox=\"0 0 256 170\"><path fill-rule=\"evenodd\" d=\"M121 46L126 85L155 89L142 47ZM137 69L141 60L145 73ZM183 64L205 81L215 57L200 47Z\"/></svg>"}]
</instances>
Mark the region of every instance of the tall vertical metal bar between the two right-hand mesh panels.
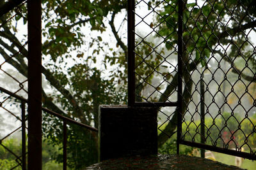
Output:
<instances>
[{"instance_id":1,"label":"tall vertical metal bar between the two right-hand mesh panels","mask_svg":"<svg viewBox=\"0 0 256 170\"><path fill-rule=\"evenodd\" d=\"M183 6L182 0L179 0L179 18L178 18L178 107L177 107L177 154L179 154L180 138L182 133L182 55L183 55Z\"/></svg>"}]
</instances>

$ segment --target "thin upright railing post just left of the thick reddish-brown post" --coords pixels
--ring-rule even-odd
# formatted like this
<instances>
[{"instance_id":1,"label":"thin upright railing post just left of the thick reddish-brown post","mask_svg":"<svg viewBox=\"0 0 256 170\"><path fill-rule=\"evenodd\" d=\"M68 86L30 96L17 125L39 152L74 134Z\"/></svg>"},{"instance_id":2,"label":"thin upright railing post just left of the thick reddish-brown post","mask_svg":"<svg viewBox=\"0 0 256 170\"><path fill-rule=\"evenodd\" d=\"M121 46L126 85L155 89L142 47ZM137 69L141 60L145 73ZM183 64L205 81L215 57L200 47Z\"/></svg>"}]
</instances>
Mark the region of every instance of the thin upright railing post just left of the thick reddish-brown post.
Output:
<instances>
[{"instance_id":1,"label":"thin upright railing post just left of the thick reddish-brown post","mask_svg":"<svg viewBox=\"0 0 256 170\"><path fill-rule=\"evenodd\" d=\"M25 102L21 101L21 127L22 127L22 170L26 170L26 117Z\"/></svg>"}]
</instances>

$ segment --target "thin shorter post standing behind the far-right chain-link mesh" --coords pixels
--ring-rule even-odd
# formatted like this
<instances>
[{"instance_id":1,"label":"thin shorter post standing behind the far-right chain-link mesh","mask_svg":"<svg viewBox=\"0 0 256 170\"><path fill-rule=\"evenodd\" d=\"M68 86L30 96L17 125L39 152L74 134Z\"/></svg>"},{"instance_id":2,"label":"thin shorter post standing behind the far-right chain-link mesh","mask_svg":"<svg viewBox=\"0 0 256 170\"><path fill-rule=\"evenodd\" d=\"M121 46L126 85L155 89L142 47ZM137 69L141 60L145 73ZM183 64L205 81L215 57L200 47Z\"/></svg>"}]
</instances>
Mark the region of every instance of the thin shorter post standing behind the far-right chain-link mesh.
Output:
<instances>
[{"instance_id":1,"label":"thin shorter post standing behind the far-right chain-link mesh","mask_svg":"<svg viewBox=\"0 0 256 170\"><path fill-rule=\"evenodd\" d=\"M201 112L201 143L205 144L205 106L204 106L204 72L200 80L200 112ZM205 157L205 150L201 149L201 157Z\"/></svg>"}]
</instances>

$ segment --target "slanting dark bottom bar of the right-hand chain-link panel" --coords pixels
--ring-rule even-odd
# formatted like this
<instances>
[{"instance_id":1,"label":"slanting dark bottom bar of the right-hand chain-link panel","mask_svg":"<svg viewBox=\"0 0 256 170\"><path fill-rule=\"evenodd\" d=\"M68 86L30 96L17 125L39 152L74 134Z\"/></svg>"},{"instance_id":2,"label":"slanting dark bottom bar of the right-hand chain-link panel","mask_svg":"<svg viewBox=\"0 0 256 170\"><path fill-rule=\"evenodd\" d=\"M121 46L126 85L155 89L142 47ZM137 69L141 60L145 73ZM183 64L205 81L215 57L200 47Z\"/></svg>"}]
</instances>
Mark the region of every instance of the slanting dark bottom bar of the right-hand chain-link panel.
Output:
<instances>
[{"instance_id":1,"label":"slanting dark bottom bar of the right-hand chain-link panel","mask_svg":"<svg viewBox=\"0 0 256 170\"><path fill-rule=\"evenodd\" d=\"M217 146L211 146L211 145L205 145L202 143L195 143L195 142L191 142L191 141L182 141L180 140L180 144L183 145L188 145L188 146L192 146L192 147L196 147L196 148L202 148L205 150L211 150L213 152L219 152L219 153L225 153L228 155L234 155L236 157L243 157L245 159L251 159L251 160L256 160L256 155L252 155L250 153L246 153L246 152L238 152L236 150L228 150L225 148L220 148Z\"/></svg>"}]
</instances>

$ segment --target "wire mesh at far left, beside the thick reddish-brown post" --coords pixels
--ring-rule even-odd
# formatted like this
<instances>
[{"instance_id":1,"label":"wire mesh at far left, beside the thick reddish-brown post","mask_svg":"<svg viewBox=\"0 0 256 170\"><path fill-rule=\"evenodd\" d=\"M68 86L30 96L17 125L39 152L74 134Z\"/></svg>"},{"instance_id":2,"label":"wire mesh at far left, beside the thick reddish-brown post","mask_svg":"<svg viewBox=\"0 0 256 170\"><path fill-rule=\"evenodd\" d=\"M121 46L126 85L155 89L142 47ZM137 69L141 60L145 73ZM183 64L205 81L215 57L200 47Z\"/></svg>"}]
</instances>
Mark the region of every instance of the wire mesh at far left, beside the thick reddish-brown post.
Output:
<instances>
[{"instance_id":1,"label":"wire mesh at far left, beside the thick reddish-brown post","mask_svg":"<svg viewBox=\"0 0 256 170\"><path fill-rule=\"evenodd\" d=\"M10 3L10 2L4 2ZM27 17L26 3L13 6L13 10L0 16L0 81L1 87L20 96L27 97ZM17 71L19 73L17 73ZM1 168L24 169L22 163L26 162L26 156L22 155L26 141L25 129L25 105L8 94L0 94L0 147ZM23 122L22 122L23 121ZM23 130L24 130L23 129ZM26 131L24 130L26 133ZM22 145L23 142L23 145ZM25 144L24 144L25 142ZM23 151L22 151L23 149ZM8 167L7 167L8 166Z\"/></svg>"}]
</instances>

